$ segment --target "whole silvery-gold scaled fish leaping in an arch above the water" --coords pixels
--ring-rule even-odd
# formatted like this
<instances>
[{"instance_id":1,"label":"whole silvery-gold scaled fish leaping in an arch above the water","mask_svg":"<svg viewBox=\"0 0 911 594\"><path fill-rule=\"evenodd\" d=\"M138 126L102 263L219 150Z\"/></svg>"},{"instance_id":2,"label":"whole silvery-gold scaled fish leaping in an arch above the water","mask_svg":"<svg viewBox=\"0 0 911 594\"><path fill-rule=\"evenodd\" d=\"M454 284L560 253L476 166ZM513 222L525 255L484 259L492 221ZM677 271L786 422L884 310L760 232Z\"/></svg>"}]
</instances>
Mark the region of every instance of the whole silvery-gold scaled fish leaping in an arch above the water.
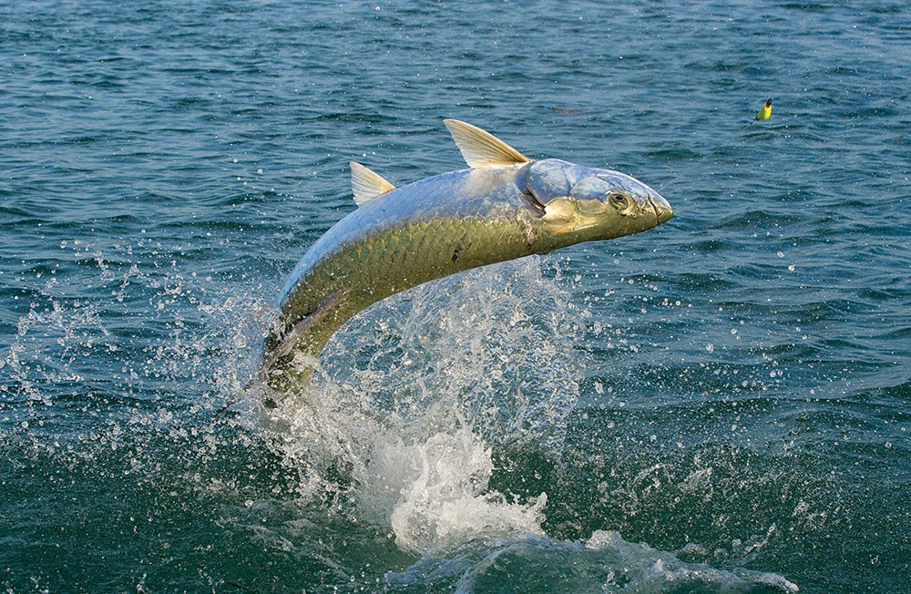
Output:
<instances>
[{"instance_id":1,"label":"whole silvery-gold scaled fish leaping in an arch above the water","mask_svg":"<svg viewBox=\"0 0 911 594\"><path fill-rule=\"evenodd\" d=\"M396 189L352 164L359 208L304 254L278 300L261 365L273 390L309 381L329 337L395 292L477 266L649 230L673 215L658 192L630 176L530 160L480 128L445 123L470 169ZM309 358L293 363L297 354Z\"/></svg>"}]
</instances>

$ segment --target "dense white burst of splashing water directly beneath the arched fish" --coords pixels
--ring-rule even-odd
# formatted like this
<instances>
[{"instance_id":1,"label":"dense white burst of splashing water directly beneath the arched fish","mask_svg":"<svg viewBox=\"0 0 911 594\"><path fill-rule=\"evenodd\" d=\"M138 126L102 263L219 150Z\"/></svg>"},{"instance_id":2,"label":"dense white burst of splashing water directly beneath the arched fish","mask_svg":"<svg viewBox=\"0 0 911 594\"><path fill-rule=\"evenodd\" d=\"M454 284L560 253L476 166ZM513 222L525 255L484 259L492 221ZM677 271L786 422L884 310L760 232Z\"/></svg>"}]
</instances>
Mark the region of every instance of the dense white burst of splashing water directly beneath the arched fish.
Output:
<instances>
[{"instance_id":1,"label":"dense white burst of splashing water directly beneath the arched fish","mask_svg":"<svg viewBox=\"0 0 911 594\"><path fill-rule=\"evenodd\" d=\"M578 399L568 293L537 259L430 283L356 317L312 388L271 414L314 489L347 488L405 551L543 534L545 493L488 488L493 449L559 456Z\"/></svg>"}]
</instances>

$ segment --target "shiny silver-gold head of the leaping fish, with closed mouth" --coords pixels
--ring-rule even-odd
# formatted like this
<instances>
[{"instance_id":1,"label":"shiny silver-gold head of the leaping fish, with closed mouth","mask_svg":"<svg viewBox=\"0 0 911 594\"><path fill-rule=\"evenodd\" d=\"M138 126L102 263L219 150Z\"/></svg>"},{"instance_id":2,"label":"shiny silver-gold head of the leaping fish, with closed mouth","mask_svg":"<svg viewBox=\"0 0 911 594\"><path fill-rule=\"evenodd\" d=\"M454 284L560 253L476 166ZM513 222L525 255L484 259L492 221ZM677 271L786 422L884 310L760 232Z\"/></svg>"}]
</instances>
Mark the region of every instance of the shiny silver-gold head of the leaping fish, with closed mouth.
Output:
<instances>
[{"instance_id":1,"label":"shiny silver-gold head of the leaping fish, with closed mouth","mask_svg":"<svg viewBox=\"0 0 911 594\"><path fill-rule=\"evenodd\" d=\"M558 244L631 235L674 214L657 191L610 169L543 159L522 168L517 182L537 209L544 232Z\"/></svg>"}]
</instances>

